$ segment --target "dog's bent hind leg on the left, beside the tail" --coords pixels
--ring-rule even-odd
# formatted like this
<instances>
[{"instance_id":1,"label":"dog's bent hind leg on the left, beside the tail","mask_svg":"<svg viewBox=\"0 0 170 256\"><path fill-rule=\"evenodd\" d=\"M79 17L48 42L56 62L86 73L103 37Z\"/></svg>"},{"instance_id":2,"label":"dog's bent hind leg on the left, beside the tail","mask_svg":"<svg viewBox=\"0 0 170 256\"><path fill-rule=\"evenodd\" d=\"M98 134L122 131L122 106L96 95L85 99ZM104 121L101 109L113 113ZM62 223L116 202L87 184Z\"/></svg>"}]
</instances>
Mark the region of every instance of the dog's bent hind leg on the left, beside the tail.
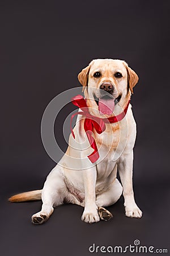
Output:
<instances>
[{"instance_id":1,"label":"dog's bent hind leg on the left, beside the tail","mask_svg":"<svg viewBox=\"0 0 170 256\"><path fill-rule=\"evenodd\" d=\"M42 224L48 220L53 213L53 207L63 204L66 190L61 170L56 166L46 178L42 189L42 208L40 212L33 214L32 223Z\"/></svg>"}]
</instances>

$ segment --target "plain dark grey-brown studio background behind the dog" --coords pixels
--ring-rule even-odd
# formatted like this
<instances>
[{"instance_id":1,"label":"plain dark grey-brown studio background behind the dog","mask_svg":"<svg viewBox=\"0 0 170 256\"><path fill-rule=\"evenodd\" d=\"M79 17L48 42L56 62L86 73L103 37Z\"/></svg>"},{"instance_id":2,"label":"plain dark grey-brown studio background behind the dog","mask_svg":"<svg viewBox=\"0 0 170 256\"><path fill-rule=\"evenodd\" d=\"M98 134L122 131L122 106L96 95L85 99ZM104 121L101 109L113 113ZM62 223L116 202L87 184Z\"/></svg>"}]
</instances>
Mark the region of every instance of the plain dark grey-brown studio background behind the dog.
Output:
<instances>
[{"instance_id":1,"label":"plain dark grey-brown studio background behind the dog","mask_svg":"<svg viewBox=\"0 0 170 256\"><path fill-rule=\"evenodd\" d=\"M168 248L168 15L164 0L1 1L1 255L84 256L94 242L126 246L135 239ZM85 224L82 208L63 205L34 226L30 218L41 202L7 198L41 188L55 166L42 146L42 114L58 93L79 86L76 76L92 59L106 57L126 60L139 75L131 102L138 125L135 199L143 217L125 217L121 198L108 208L109 222ZM62 123L73 109L67 106L56 121L63 150Z\"/></svg>"}]
</instances>

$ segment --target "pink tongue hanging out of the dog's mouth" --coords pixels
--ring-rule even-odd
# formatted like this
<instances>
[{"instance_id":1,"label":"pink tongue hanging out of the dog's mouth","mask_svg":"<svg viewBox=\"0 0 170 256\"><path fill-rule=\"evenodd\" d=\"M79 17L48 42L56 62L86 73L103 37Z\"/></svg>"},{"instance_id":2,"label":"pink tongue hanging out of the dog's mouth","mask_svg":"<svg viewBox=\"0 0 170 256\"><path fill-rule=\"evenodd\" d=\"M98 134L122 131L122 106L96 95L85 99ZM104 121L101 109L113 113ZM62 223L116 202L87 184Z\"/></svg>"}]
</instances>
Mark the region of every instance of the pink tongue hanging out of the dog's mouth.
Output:
<instances>
[{"instance_id":1,"label":"pink tongue hanging out of the dog's mouth","mask_svg":"<svg viewBox=\"0 0 170 256\"><path fill-rule=\"evenodd\" d=\"M99 99L99 112L103 115L111 115L114 111L113 98L100 98Z\"/></svg>"}]
</instances>

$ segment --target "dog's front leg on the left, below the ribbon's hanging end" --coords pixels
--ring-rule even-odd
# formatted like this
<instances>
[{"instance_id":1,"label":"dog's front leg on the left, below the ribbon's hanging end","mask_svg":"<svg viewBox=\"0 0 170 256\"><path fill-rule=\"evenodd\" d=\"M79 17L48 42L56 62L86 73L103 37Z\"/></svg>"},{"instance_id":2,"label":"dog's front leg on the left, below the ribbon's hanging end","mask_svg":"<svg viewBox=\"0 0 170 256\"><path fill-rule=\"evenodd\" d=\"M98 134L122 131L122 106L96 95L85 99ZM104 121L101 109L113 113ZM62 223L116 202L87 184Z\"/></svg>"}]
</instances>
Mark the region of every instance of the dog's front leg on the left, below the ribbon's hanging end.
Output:
<instances>
[{"instance_id":1,"label":"dog's front leg on the left, below the ribbon's hanging end","mask_svg":"<svg viewBox=\"0 0 170 256\"><path fill-rule=\"evenodd\" d=\"M85 206L82 220L88 223L100 220L96 206L96 166L83 170Z\"/></svg>"}]
</instances>

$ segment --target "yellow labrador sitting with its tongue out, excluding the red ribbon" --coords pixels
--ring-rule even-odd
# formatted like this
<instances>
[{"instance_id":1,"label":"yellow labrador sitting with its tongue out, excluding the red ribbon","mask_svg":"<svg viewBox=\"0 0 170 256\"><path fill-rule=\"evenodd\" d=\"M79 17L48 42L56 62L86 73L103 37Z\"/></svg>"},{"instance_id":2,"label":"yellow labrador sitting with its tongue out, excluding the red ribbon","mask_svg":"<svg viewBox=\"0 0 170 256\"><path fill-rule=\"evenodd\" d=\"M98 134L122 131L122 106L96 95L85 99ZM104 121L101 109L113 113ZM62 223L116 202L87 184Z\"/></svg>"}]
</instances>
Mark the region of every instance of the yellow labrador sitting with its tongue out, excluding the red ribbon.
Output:
<instances>
[{"instance_id":1,"label":"yellow labrador sitting with its tongue out, excluding the red ribbon","mask_svg":"<svg viewBox=\"0 0 170 256\"><path fill-rule=\"evenodd\" d=\"M125 61L96 59L79 73L78 79L83 85L90 115L100 121L118 117L127 108L126 115L119 122L105 122L102 133L92 129L99 157L91 161L88 156L93 149L79 109L73 130L75 138L70 135L66 154L48 175L44 188L12 196L9 200L42 199L41 211L32 216L33 224L48 220L53 207L63 203L84 207L82 220L92 223L112 217L104 207L116 203L123 191L126 216L141 218L142 211L135 203L132 181L136 124L131 105L128 105L138 76ZM117 170L121 183L116 179Z\"/></svg>"}]
</instances>

